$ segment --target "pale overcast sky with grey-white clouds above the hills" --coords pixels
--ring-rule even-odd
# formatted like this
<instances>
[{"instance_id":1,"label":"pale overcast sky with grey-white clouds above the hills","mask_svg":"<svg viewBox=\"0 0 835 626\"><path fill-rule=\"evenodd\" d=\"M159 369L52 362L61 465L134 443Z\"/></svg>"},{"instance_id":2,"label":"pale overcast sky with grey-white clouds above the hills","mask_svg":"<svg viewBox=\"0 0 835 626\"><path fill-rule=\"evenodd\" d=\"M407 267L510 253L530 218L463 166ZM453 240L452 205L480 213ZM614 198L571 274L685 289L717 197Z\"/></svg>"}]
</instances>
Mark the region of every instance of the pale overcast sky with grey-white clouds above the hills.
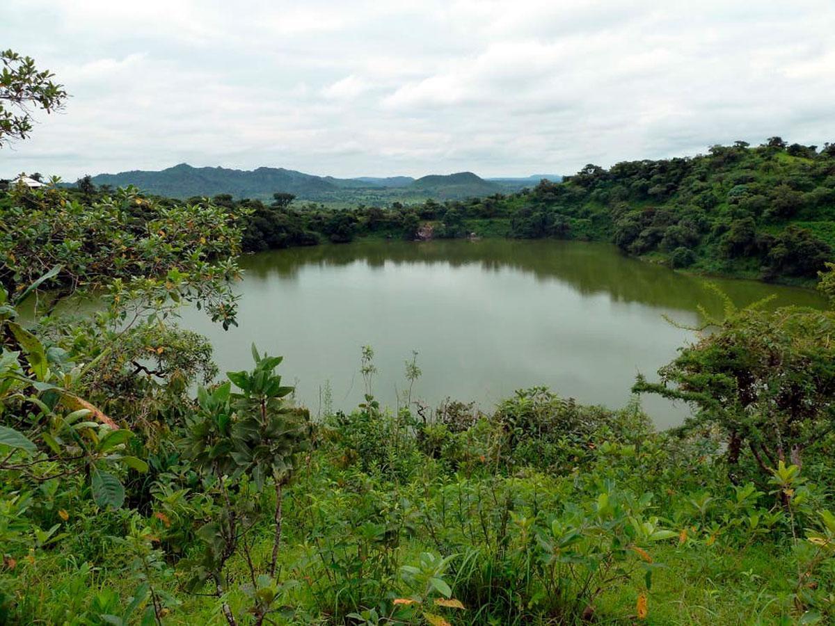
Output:
<instances>
[{"instance_id":1,"label":"pale overcast sky with grey-white clouds above the hills","mask_svg":"<svg viewBox=\"0 0 835 626\"><path fill-rule=\"evenodd\" d=\"M2 0L72 98L0 176L571 174L835 141L833 0Z\"/></svg>"}]
</instances>

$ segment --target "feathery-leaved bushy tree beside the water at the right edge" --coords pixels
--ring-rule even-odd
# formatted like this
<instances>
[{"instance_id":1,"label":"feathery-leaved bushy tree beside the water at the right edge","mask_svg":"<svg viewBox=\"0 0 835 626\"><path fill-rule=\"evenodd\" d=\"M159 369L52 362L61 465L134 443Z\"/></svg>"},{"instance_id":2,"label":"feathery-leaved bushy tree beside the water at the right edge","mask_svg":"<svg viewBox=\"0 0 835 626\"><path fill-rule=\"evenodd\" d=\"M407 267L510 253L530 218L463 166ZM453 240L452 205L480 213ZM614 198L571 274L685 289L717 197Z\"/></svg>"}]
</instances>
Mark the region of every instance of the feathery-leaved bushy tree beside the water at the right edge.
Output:
<instances>
[{"instance_id":1,"label":"feathery-leaved bushy tree beside the water at the right edge","mask_svg":"<svg viewBox=\"0 0 835 626\"><path fill-rule=\"evenodd\" d=\"M689 403L686 430L720 428L732 478L744 447L763 475L788 460L800 466L835 428L835 312L767 311L762 302L736 310L724 297L725 319L706 318L693 330L711 332L662 367L659 383L638 376L633 391Z\"/></svg>"}]
</instances>

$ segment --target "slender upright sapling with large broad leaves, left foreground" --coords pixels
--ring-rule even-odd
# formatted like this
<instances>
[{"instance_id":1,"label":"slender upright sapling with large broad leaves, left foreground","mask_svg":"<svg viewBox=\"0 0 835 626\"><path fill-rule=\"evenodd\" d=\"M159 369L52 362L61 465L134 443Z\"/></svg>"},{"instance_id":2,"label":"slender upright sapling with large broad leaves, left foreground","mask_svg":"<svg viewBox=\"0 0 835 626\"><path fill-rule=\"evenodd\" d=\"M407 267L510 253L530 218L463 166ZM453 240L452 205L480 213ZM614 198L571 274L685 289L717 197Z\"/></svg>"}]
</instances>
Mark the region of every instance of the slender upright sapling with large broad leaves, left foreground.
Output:
<instances>
[{"instance_id":1,"label":"slender upright sapling with large broad leaves, left foreground","mask_svg":"<svg viewBox=\"0 0 835 626\"><path fill-rule=\"evenodd\" d=\"M206 391L200 387L200 411L193 421L188 437L189 455L194 466L204 472L206 484L213 484L214 514L198 535L205 543L204 552L194 563L190 587L200 588L211 581L218 598L225 594L228 577L225 568L229 558L243 548L250 569L255 623L264 622L274 611L272 603L278 596L276 568L281 548L283 487L290 482L300 452L311 449L311 426L307 411L293 408L286 396L291 386L281 385L275 369L281 356L258 354L252 346L256 366L252 371L230 371L229 381ZM239 393L231 391L234 383ZM275 528L272 550L266 571L256 570L251 558L252 528L259 511L253 501L260 498L268 481L276 494L273 508ZM256 583L256 580L258 583ZM221 608L226 621L235 626L235 616L223 600Z\"/></svg>"}]
</instances>

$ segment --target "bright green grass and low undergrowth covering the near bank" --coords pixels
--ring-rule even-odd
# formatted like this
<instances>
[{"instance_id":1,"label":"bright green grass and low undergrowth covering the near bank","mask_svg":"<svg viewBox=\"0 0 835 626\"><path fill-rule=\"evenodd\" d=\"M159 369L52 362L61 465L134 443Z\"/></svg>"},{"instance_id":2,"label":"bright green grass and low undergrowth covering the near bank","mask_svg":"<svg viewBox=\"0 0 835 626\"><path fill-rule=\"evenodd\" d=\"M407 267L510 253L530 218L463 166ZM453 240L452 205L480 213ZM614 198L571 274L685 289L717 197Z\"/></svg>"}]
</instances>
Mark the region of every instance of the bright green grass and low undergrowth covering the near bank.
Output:
<instances>
[{"instance_id":1,"label":"bright green grass and low undergrowth covering the near bank","mask_svg":"<svg viewBox=\"0 0 835 626\"><path fill-rule=\"evenodd\" d=\"M710 433L656 433L636 406L576 406L541 389L489 416L453 404L428 424L371 401L327 417L314 437L283 494L275 623L827 623L832 615L831 544L804 538L804 527L835 532L818 512L830 497L831 442L807 461L809 482L794 475L791 486L732 486ZM6 573L15 606L7 618L114 623L146 581L164 598L164 623L225 623L208 589L185 591L208 509L199 485L188 487L188 463L165 449L149 455L144 513L54 494L68 537ZM793 490L787 506L783 489ZM275 500L246 481L240 497L261 515L247 551L230 558L223 598L250 623L258 582L247 559L256 569L270 559L266 512ZM145 548L125 549L124 537Z\"/></svg>"}]
</instances>

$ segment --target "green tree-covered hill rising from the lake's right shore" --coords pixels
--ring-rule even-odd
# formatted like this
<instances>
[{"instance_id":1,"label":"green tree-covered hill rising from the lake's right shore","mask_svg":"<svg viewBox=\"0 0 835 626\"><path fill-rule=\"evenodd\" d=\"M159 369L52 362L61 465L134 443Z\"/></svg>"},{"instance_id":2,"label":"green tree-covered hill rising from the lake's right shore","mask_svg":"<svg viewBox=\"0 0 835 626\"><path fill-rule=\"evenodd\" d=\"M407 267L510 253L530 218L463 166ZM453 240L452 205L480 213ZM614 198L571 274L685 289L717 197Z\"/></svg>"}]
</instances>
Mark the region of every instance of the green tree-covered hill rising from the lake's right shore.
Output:
<instances>
[{"instance_id":1,"label":"green tree-covered hill rising from the lake's right shore","mask_svg":"<svg viewBox=\"0 0 835 626\"><path fill-rule=\"evenodd\" d=\"M835 249L835 145L773 137L693 158L590 164L503 204L517 237L611 240L676 267L808 280Z\"/></svg>"}]
</instances>

